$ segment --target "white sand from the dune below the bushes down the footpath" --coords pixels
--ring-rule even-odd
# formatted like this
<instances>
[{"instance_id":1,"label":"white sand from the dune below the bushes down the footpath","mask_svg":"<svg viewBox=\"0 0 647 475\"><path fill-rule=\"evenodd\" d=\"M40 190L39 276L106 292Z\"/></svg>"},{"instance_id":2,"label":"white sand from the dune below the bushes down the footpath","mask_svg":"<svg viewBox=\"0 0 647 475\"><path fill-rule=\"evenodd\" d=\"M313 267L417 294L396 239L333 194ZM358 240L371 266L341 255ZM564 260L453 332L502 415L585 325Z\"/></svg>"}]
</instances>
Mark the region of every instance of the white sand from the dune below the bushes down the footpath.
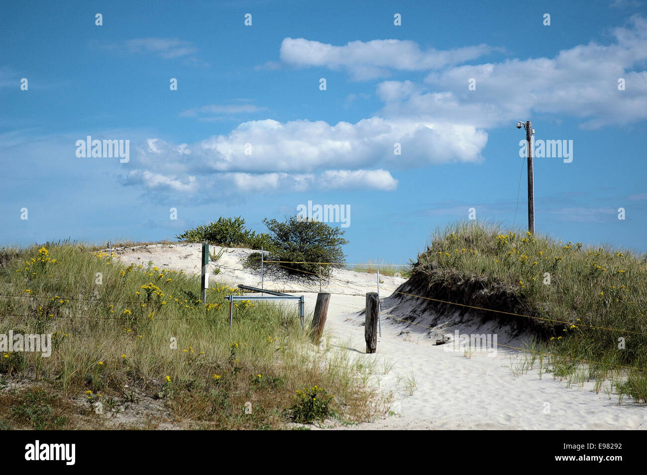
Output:
<instances>
[{"instance_id":1,"label":"white sand from the dune below the bushes down the footpath","mask_svg":"<svg viewBox=\"0 0 647 475\"><path fill-rule=\"evenodd\" d=\"M212 250L214 250L212 248ZM218 252L220 248L215 248ZM120 260L158 267L183 269L186 273L200 272L200 245L155 245L136 249L117 250ZM241 265L252 250L226 249L217 262L221 274L210 276L210 282L228 283L232 287L242 283L259 286L260 274L248 272ZM214 267L211 264L210 267ZM364 309L367 292L377 291L375 274L335 270L335 279L322 290L332 293L326 330L329 341L335 344L350 343L349 351L364 353ZM382 276L384 281L380 296L404 282L401 278ZM305 295L306 312L312 313L318 283L288 282L274 278L265 280L265 289L296 291L308 289ZM298 293L295 293L298 294ZM355 295L353 295L355 294ZM382 302L384 313L403 317L415 313L419 299ZM395 305L397 304L397 305ZM395 305L395 306L393 306ZM391 308L388 308L391 307ZM424 325L432 315L418 313L415 322ZM478 326L470 316L446 318L444 331L460 333L498 333L498 342L518 346L523 338L513 337L509 329ZM371 423L356 426L339 426L339 429L641 429L647 428L647 407L625 398L610 397L604 389L597 394L593 382L583 387L568 387L566 381L553 379L552 373L539 378L538 362L529 371L520 371L525 354L511 349L498 348L494 357L487 351L476 351L472 357L465 351L447 351L453 342L435 346L438 337L429 329L382 318L382 337L378 337L377 353L360 356L378 359L376 384L386 392L393 392L395 402L387 415ZM359 353L354 354L359 355ZM489 355L488 355L489 354ZM393 367L381 374L382 361ZM415 378L416 388L410 395L406 379Z\"/></svg>"}]
</instances>

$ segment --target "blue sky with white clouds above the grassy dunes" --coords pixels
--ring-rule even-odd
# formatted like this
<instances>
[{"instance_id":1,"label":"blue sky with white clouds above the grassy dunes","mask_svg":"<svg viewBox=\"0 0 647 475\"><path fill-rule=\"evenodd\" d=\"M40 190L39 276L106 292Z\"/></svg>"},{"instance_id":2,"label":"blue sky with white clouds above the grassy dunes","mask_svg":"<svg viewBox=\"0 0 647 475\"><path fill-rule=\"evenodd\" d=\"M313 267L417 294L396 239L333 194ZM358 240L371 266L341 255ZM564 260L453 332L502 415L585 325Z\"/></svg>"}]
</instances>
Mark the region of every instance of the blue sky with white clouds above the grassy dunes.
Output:
<instances>
[{"instance_id":1,"label":"blue sky with white clouds above the grassy dunes","mask_svg":"<svg viewBox=\"0 0 647 475\"><path fill-rule=\"evenodd\" d=\"M644 2L5 2L0 39L0 245L312 201L350 206L349 261L415 260L469 208L526 225L532 120L573 140L534 160L536 230L647 252ZM77 157L87 135L129 161Z\"/></svg>"}]
</instances>

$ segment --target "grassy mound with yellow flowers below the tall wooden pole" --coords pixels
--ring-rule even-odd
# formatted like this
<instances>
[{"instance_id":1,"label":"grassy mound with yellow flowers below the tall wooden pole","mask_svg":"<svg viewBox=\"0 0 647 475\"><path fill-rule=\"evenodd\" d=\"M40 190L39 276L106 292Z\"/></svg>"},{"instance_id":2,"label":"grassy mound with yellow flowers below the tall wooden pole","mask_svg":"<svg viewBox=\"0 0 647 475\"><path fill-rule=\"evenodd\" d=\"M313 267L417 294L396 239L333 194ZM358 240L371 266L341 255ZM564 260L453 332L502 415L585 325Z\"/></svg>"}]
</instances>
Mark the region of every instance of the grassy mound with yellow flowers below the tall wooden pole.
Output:
<instances>
[{"instance_id":1,"label":"grassy mound with yellow flowers below the tall wooden pole","mask_svg":"<svg viewBox=\"0 0 647 475\"><path fill-rule=\"evenodd\" d=\"M628 378L620 388L642 398L646 372L622 366L647 368L647 256L456 223L435 232L412 278L452 302L536 317L484 313L527 320L544 337L543 351L561 358L560 375L581 364L593 378L620 372Z\"/></svg>"}]
</instances>

